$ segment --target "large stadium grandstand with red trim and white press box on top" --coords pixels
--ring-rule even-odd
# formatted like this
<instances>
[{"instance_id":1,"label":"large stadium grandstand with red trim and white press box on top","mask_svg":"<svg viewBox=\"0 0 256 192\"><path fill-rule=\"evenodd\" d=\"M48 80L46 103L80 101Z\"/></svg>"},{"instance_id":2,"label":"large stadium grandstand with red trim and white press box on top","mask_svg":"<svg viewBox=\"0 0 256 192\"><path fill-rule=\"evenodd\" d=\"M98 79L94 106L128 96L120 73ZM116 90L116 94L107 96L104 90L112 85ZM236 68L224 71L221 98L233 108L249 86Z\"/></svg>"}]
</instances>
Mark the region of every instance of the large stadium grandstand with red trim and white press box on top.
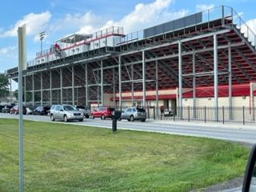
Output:
<instances>
[{"instance_id":1,"label":"large stadium grandstand with red trim and white press box on top","mask_svg":"<svg viewBox=\"0 0 256 192\"><path fill-rule=\"evenodd\" d=\"M186 116L183 106L212 106L215 121L222 118L222 106L246 106L246 118L255 121L256 36L232 7L131 34L113 26L56 43L58 48L51 46L27 62L26 102L154 106L157 117L160 106L178 117ZM18 81L17 67L6 74ZM230 119L241 116L228 113Z\"/></svg>"}]
</instances>

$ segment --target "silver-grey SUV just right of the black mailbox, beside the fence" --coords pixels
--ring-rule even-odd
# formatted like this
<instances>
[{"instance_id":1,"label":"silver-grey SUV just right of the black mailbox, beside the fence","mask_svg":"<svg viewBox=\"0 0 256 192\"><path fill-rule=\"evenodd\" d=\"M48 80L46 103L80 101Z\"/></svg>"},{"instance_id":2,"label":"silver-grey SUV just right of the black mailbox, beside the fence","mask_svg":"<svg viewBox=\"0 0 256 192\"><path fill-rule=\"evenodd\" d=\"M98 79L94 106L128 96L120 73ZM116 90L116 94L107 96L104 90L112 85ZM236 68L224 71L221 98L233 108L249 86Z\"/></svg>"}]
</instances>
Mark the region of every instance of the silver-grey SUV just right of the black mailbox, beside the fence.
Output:
<instances>
[{"instance_id":1,"label":"silver-grey SUV just right of the black mailbox, beside the fence","mask_svg":"<svg viewBox=\"0 0 256 192\"><path fill-rule=\"evenodd\" d=\"M127 119L128 122L134 122L134 120L140 120L142 122L145 122L146 110L142 108L128 107L122 112L121 118L119 120L122 119Z\"/></svg>"}]
</instances>

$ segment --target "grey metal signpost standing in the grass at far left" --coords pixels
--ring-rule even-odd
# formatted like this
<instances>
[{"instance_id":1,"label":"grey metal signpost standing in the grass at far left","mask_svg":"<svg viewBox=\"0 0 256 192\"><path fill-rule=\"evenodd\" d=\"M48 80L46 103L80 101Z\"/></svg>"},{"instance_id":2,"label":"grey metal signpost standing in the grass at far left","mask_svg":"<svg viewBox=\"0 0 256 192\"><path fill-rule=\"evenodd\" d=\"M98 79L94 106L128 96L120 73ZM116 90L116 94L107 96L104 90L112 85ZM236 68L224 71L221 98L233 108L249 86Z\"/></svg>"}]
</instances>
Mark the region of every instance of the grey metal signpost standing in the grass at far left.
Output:
<instances>
[{"instance_id":1,"label":"grey metal signpost standing in the grass at far left","mask_svg":"<svg viewBox=\"0 0 256 192\"><path fill-rule=\"evenodd\" d=\"M23 181L23 104L22 104L22 72L26 69L26 26L18 27L18 162L19 162L19 192L24 190Z\"/></svg>"}]
</instances>

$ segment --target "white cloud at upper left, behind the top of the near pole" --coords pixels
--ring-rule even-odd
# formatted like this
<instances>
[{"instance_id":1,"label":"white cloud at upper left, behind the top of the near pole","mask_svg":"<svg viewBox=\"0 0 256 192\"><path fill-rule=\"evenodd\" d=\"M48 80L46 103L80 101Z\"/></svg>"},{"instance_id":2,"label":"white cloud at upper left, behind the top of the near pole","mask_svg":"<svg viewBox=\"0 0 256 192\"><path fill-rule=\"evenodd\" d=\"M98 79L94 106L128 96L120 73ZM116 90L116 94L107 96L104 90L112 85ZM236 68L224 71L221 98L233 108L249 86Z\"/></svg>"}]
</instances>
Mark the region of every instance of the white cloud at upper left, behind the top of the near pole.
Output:
<instances>
[{"instance_id":1,"label":"white cloud at upper left, behind the top of the near pole","mask_svg":"<svg viewBox=\"0 0 256 192\"><path fill-rule=\"evenodd\" d=\"M22 18L22 20L16 22L12 29L0 33L0 38L17 36L18 26L22 26L23 24L26 24L27 35L38 34L46 28L50 18L51 14L49 11L43 12L41 14L27 14L24 18Z\"/></svg>"}]
</instances>

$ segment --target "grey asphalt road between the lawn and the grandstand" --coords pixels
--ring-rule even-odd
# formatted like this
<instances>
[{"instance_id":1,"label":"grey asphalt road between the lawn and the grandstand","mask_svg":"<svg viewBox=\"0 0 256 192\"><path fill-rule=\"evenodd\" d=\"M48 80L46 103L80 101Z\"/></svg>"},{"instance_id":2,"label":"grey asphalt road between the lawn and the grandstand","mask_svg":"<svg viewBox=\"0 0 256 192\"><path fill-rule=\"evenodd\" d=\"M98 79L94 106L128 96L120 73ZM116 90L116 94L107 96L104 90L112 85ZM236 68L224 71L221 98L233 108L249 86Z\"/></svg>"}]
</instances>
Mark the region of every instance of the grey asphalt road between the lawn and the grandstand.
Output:
<instances>
[{"instance_id":1,"label":"grey asphalt road between the lawn and the grandstand","mask_svg":"<svg viewBox=\"0 0 256 192\"><path fill-rule=\"evenodd\" d=\"M0 118L19 118L19 115L0 113ZM50 122L49 116L23 115L23 118L34 121ZM66 123L81 126L112 127L112 121L110 119L101 120L99 118L85 118L83 122ZM236 142L247 142L250 144L256 142L256 124L252 126L242 126L242 124L223 125L221 122L173 122L147 119L146 122L118 121L118 129L218 138Z\"/></svg>"}]
</instances>

